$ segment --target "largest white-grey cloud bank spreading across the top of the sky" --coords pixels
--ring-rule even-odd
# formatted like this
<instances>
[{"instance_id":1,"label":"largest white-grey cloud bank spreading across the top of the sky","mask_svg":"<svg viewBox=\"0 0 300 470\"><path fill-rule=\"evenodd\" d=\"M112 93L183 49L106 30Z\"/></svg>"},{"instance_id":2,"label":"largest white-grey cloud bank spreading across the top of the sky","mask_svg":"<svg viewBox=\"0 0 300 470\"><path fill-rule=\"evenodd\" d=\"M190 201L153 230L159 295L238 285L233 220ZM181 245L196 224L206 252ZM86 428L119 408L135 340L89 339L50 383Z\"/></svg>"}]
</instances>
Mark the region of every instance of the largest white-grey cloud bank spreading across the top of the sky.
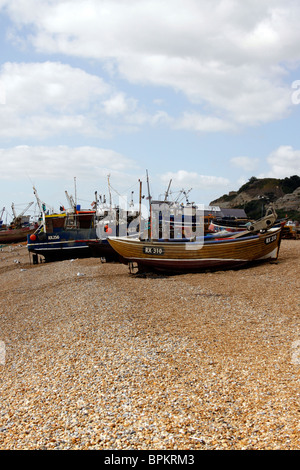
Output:
<instances>
[{"instance_id":1,"label":"largest white-grey cloud bank spreading across the top of the sky","mask_svg":"<svg viewBox=\"0 0 300 470\"><path fill-rule=\"evenodd\" d=\"M39 52L99 59L132 83L171 87L218 113L200 128L265 123L291 107L283 78L300 58L293 0L9 0L6 8L11 37L23 40L32 26L26 40Z\"/></svg>"}]
</instances>

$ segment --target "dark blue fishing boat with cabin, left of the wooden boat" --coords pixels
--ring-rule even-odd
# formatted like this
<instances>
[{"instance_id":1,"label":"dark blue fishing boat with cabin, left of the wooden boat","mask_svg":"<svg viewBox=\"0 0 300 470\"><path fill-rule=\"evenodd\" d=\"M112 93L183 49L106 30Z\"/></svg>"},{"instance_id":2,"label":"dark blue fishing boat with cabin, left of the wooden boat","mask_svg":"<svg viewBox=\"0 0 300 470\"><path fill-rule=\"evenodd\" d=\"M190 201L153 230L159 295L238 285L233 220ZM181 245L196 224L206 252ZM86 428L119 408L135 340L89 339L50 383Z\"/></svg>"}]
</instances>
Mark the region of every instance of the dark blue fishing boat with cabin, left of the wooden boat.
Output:
<instances>
[{"instance_id":1,"label":"dark blue fishing boat with cabin, left of the wooden boat","mask_svg":"<svg viewBox=\"0 0 300 470\"><path fill-rule=\"evenodd\" d=\"M81 210L77 206L76 210L43 214L38 229L27 237L27 248L29 253L41 255L45 262L89 257L113 261L118 256L107 237L138 236L139 228L133 220L137 220L136 212L104 206L93 210Z\"/></svg>"}]
</instances>

